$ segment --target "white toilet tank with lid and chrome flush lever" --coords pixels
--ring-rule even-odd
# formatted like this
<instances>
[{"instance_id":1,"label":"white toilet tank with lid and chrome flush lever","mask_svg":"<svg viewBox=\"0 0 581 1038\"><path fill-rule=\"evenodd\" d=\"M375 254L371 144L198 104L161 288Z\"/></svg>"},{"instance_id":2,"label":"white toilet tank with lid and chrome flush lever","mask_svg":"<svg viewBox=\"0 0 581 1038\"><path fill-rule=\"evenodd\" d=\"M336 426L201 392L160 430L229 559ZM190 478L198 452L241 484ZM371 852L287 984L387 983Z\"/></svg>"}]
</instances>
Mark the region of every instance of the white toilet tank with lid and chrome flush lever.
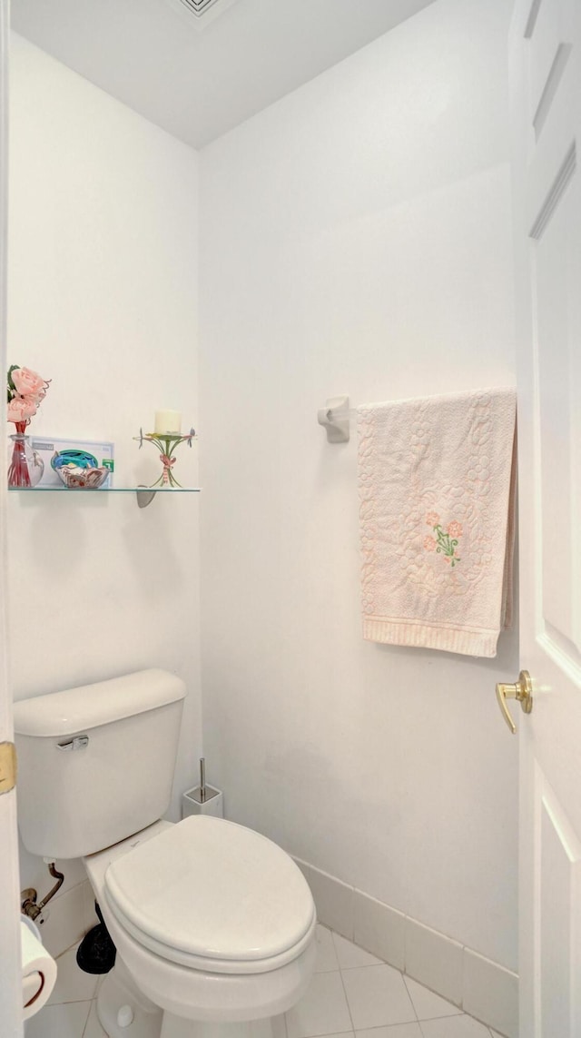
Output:
<instances>
[{"instance_id":1,"label":"white toilet tank with lid and chrome flush lever","mask_svg":"<svg viewBox=\"0 0 581 1038\"><path fill-rule=\"evenodd\" d=\"M25 847L83 857L161 818L185 694L179 678L151 670L15 703Z\"/></svg>"}]
</instances>

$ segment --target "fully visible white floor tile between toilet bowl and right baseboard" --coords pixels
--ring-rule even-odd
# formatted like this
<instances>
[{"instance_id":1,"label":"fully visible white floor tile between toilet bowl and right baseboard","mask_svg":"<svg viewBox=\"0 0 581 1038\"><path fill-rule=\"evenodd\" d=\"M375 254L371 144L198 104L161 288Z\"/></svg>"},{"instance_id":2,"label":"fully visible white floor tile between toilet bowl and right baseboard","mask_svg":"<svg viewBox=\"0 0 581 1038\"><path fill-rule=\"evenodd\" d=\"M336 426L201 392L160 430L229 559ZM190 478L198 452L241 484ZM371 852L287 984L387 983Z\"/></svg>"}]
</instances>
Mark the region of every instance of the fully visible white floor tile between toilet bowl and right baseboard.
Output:
<instances>
[{"instance_id":1,"label":"fully visible white floor tile between toilet bowl and right baseboard","mask_svg":"<svg viewBox=\"0 0 581 1038\"><path fill-rule=\"evenodd\" d=\"M417 1019L404 978L392 966L361 966L341 973L356 1031Z\"/></svg>"}]
</instances>

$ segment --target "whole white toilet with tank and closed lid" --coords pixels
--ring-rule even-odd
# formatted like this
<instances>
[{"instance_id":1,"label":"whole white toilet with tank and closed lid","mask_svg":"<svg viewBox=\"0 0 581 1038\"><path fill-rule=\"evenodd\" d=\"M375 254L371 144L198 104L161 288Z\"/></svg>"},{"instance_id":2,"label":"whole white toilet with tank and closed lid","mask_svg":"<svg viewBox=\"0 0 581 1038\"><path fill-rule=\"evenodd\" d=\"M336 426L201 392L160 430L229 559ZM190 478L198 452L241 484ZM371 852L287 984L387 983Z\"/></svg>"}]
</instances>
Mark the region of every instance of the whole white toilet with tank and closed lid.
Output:
<instances>
[{"instance_id":1,"label":"whole white toilet with tank and closed lid","mask_svg":"<svg viewBox=\"0 0 581 1038\"><path fill-rule=\"evenodd\" d=\"M84 858L117 948L110 1038L269 1038L310 980L314 904L257 832L160 820L184 696L156 670L16 703L20 829L33 854Z\"/></svg>"}]
</instances>

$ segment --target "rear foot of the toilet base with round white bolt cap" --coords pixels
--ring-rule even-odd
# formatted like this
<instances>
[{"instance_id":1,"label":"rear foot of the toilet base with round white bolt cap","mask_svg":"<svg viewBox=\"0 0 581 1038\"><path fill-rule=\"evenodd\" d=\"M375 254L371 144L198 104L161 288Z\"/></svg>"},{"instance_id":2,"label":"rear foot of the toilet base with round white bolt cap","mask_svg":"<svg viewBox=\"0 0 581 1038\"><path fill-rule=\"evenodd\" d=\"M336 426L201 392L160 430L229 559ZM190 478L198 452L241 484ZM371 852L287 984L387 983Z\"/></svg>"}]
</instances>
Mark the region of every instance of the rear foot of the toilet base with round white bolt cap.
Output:
<instances>
[{"instance_id":1,"label":"rear foot of the toilet base with round white bolt cap","mask_svg":"<svg viewBox=\"0 0 581 1038\"><path fill-rule=\"evenodd\" d=\"M139 990L117 956L96 996L99 1022L109 1038L160 1038L163 1009Z\"/></svg>"}]
</instances>

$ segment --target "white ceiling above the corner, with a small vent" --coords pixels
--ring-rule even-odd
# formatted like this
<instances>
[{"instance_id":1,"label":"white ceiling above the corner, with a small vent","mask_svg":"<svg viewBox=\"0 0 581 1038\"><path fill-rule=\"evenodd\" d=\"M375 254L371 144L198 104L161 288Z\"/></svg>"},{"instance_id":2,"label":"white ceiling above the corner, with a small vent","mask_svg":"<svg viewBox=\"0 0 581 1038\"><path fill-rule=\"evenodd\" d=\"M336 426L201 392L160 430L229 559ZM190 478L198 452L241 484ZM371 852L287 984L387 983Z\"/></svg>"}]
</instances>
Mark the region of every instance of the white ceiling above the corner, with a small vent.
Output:
<instances>
[{"instance_id":1,"label":"white ceiling above the corner, with a small vent","mask_svg":"<svg viewBox=\"0 0 581 1038\"><path fill-rule=\"evenodd\" d=\"M12 0L12 28L201 147L433 0Z\"/></svg>"}]
</instances>

